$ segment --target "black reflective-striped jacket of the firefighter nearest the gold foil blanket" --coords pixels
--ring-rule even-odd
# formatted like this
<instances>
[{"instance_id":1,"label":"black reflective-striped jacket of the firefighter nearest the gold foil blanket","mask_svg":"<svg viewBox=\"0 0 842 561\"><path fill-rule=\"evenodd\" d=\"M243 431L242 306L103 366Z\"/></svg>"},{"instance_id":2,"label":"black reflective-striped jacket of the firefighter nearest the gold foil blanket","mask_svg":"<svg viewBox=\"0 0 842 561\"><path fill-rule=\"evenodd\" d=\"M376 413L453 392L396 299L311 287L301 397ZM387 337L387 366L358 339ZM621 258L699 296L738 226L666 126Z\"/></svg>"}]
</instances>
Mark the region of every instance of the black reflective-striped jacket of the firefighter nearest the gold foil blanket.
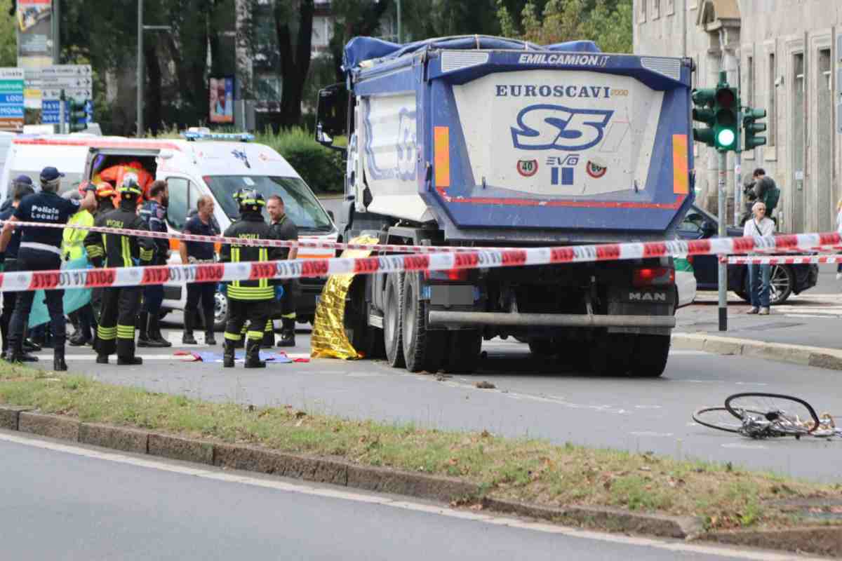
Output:
<instances>
[{"instance_id":1,"label":"black reflective-striped jacket of the firefighter nearest the gold foil blanket","mask_svg":"<svg viewBox=\"0 0 842 561\"><path fill-rule=\"evenodd\" d=\"M278 239L272 227L266 224L263 215L244 213L240 220L228 226L223 236L256 240ZM232 246L223 244L220 252L221 262L279 261L280 247ZM232 281L228 283L228 298L235 300L272 300L274 286L280 281L269 278L257 280Z\"/></svg>"}]
</instances>

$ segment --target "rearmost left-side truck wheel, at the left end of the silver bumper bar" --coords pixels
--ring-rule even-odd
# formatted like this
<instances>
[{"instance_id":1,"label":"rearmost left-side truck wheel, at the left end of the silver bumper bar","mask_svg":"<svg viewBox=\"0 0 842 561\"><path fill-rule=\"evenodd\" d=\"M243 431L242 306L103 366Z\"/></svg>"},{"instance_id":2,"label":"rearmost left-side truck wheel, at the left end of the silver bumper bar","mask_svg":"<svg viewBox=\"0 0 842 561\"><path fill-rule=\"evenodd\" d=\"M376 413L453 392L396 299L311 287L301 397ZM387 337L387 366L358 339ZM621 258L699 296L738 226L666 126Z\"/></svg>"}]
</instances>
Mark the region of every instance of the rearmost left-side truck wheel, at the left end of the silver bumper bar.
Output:
<instances>
[{"instance_id":1,"label":"rearmost left-side truck wheel, at the left end of the silver bumper bar","mask_svg":"<svg viewBox=\"0 0 842 561\"><path fill-rule=\"evenodd\" d=\"M429 302L421 299L421 278L408 273L403 279L403 357L409 372L438 372L445 356L446 331L427 329Z\"/></svg>"}]
</instances>

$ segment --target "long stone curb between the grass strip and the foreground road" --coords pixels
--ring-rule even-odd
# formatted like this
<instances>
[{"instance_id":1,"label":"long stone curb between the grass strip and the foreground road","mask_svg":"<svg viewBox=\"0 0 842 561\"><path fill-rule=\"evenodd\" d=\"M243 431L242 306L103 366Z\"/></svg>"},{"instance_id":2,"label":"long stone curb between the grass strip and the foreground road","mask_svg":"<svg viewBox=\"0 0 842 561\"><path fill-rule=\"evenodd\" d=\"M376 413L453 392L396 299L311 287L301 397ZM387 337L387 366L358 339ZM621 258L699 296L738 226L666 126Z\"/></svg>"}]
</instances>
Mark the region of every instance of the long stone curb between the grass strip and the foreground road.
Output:
<instances>
[{"instance_id":1,"label":"long stone curb between the grass strip and the foreground road","mask_svg":"<svg viewBox=\"0 0 842 561\"><path fill-rule=\"evenodd\" d=\"M441 502L477 500L480 485L439 475L416 474L400 469L362 466L340 458L275 452L261 447L175 437L120 426L86 423L61 415L45 415L32 407L0 405L0 428L59 438L121 452L204 463L280 477L304 479L354 489L407 495ZM483 508L548 521L637 533L652 537L692 539L701 532L701 521L691 517L644 514L594 506L541 506L489 497ZM840 546L838 551L842 551Z\"/></svg>"}]
</instances>

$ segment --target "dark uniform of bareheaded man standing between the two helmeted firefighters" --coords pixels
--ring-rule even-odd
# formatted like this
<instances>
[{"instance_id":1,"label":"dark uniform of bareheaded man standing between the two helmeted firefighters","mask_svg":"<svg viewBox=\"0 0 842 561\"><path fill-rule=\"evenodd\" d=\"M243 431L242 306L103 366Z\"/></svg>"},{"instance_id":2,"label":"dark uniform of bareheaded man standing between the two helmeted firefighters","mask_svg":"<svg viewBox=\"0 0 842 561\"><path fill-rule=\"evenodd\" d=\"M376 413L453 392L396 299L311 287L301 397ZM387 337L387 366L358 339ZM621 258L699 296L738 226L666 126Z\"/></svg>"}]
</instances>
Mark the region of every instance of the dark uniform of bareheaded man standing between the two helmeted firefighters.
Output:
<instances>
[{"instance_id":1,"label":"dark uniform of bareheaded man standing between the two helmeted firefighters","mask_svg":"<svg viewBox=\"0 0 842 561\"><path fill-rule=\"evenodd\" d=\"M207 224L202 222L199 214L194 214L184 225L185 234L195 236L219 236L219 227L216 220L210 217ZM211 243L202 241L185 241L187 246L187 257L190 262L213 262L214 246ZM199 315L201 301L202 313L205 315L205 341L207 337L213 338L214 309L216 302L216 284L214 283L189 283L187 285L187 303L184 304L184 333L193 336L195 318Z\"/></svg>"}]
</instances>

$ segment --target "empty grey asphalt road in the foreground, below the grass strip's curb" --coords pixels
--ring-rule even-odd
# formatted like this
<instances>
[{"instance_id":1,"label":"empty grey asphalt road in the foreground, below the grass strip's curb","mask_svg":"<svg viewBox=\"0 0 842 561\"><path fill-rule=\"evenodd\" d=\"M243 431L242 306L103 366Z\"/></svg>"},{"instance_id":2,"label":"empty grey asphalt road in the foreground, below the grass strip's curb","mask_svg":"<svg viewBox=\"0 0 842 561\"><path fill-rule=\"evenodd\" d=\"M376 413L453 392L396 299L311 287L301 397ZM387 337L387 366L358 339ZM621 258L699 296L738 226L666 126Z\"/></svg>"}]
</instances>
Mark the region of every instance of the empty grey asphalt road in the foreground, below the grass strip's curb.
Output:
<instances>
[{"instance_id":1,"label":"empty grey asphalt road in the foreground, below the grass strip's curb","mask_svg":"<svg viewBox=\"0 0 842 561\"><path fill-rule=\"evenodd\" d=\"M794 559L454 511L0 431L3 558Z\"/></svg>"}]
</instances>

